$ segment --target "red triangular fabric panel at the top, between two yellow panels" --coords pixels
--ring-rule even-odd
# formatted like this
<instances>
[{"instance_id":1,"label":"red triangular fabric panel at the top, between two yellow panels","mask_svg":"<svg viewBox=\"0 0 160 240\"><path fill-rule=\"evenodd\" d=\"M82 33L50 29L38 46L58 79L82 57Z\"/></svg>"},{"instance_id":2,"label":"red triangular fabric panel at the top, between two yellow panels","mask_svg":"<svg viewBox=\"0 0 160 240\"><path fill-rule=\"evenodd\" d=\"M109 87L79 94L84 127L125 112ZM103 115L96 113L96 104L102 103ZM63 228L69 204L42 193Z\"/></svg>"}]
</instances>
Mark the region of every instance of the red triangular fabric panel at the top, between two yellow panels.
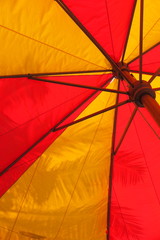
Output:
<instances>
[{"instance_id":1,"label":"red triangular fabric panel at the top, between two yellow panels","mask_svg":"<svg viewBox=\"0 0 160 240\"><path fill-rule=\"evenodd\" d=\"M119 62L132 15L134 0L64 0L80 22Z\"/></svg>"}]
</instances>

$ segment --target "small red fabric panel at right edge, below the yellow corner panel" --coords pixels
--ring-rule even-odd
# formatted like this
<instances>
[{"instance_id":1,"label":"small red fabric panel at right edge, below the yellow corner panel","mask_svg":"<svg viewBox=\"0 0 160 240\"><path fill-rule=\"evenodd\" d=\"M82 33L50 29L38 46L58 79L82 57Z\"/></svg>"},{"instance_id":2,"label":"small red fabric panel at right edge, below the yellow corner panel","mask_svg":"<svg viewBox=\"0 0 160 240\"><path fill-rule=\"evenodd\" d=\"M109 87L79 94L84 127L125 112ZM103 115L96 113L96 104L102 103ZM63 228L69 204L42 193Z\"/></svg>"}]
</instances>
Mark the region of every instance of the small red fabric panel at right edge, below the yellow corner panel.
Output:
<instances>
[{"instance_id":1,"label":"small red fabric panel at right edge, below the yellow corner panel","mask_svg":"<svg viewBox=\"0 0 160 240\"><path fill-rule=\"evenodd\" d=\"M160 66L160 44L143 55L143 71L154 73ZM132 70L139 70L139 59L129 64Z\"/></svg>"}]
</instances>

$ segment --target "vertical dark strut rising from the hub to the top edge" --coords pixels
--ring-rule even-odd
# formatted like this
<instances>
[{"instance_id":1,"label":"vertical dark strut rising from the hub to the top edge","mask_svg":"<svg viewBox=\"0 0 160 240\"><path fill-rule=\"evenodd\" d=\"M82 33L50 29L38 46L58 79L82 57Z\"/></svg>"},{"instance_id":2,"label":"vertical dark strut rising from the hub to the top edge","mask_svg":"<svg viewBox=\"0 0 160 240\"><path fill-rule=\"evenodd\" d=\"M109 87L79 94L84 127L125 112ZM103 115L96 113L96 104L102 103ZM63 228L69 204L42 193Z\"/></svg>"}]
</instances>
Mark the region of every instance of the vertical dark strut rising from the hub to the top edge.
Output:
<instances>
[{"instance_id":1,"label":"vertical dark strut rising from the hub to the top edge","mask_svg":"<svg viewBox=\"0 0 160 240\"><path fill-rule=\"evenodd\" d=\"M144 0L140 1L140 37L139 37L139 81L142 82L142 64L143 64L143 13Z\"/></svg>"}]
</instances>

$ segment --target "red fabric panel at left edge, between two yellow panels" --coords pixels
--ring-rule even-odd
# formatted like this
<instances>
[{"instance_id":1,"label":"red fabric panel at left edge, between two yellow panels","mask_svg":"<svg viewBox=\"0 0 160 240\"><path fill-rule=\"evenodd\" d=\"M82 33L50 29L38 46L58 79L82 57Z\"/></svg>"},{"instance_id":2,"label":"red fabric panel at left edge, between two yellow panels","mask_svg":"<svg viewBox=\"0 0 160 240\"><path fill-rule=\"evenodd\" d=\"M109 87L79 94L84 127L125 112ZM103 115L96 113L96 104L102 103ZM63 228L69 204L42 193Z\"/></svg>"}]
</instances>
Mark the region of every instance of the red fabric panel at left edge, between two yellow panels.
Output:
<instances>
[{"instance_id":1,"label":"red fabric panel at left edge, between two yellow panels","mask_svg":"<svg viewBox=\"0 0 160 240\"><path fill-rule=\"evenodd\" d=\"M110 76L71 76L53 77L53 79L101 86ZM52 77L48 79L52 79ZM94 90L38 82L27 78L1 79L0 89L2 93L0 102L0 171L95 92ZM64 124L74 120L85 107L86 104ZM3 194L18 179L59 134L59 132L53 133L44 139L41 144L0 177L0 194ZM17 168L17 166L19 167Z\"/></svg>"}]
</instances>

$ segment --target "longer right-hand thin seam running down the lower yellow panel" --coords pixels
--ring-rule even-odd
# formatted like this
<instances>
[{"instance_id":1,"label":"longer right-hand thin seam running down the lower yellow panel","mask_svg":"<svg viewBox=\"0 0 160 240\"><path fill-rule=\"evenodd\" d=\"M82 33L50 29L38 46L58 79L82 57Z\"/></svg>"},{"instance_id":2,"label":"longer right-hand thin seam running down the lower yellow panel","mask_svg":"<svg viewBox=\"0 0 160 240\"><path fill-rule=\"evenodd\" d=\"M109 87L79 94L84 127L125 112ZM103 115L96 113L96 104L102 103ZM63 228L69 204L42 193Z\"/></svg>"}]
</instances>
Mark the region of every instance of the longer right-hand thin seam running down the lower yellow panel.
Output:
<instances>
[{"instance_id":1,"label":"longer right-hand thin seam running down the lower yellow panel","mask_svg":"<svg viewBox=\"0 0 160 240\"><path fill-rule=\"evenodd\" d=\"M110 95L111 95L111 93L110 93ZM110 98L108 98L108 101L109 101L109 99L110 99ZM108 104L108 101L107 101L107 103L106 103L106 106L107 106L107 104ZM60 227L59 227L59 229L58 229L58 231L57 231L57 233L56 233L56 235L55 235L55 237L54 237L54 240L57 240L57 237L59 236L59 233L60 233L60 231L61 231L62 225L63 225L63 223L64 223L64 220L65 220L65 217L66 217L66 215L67 215L68 209L69 209L69 207L70 207L70 204L71 204L71 201L72 201L74 192L75 192L76 187L77 187L77 185L78 185L79 179L80 179L81 174L82 174L83 169L84 169L84 166L85 166L85 164L86 164L86 162L87 162L87 158L88 158L88 156L89 156L90 149L91 149L91 147L92 147L92 145L93 145L93 141L94 141L94 139L95 139L95 136L96 136L96 134L97 134L97 131L98 131L98 128L99 128L99 125L100 125L102 119L103 119L103 114L101 115L101 118L100 118L100 121L99 121L99 123L98 123L97 129L96 129L96 131L95 131L95 133L94 133L92 142L91 142L91 144L90 144L90 147L89 147L89 149L88 149L88 152L87 152L87 154L86 154L86 157L85 157L85 159L84 159L84 162L83 162L83 164L82 164L82 167L81 167L81 169L80 169L80 172L79 172L77 181L76 181L76 183L75 183L73 192L72 192L72 194L71 194L71 198L70 198L70 200L69 200L68 206L67 206L66 211L65 211L65 213L64 213L64 216L63 216L62 222L61 222L61 224L60 224Z\"/></svg>"}]
</instances>

